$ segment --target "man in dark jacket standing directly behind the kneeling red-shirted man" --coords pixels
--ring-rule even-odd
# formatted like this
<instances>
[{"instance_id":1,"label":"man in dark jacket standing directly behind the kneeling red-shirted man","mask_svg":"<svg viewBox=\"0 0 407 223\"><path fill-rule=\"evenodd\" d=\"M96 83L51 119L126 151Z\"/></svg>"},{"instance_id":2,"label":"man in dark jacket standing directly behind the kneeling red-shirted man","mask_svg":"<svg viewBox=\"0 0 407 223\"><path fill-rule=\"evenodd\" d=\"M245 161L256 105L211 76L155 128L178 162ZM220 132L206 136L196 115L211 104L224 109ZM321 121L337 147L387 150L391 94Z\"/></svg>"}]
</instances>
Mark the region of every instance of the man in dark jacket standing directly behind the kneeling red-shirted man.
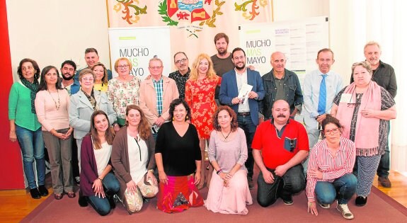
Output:
<instances>
[{"instance_id":1,"label":"man in dark jacket standing directly behind the kneeling red-shirted man","mask_svg":"<svg viewBox=\"0 0 407 223\"><path fill-rule=\"evenodd\" d=\"M290 105L290 118L294 119L297 111L301 113L302 90L297 74L285 69L285 55L282 52L273 52L271 55L270 72L262 76L265 98L260 104L260 113L264 119L271 118L271 108L277 100L284 100Z\"/></svg>"}]
</instances>

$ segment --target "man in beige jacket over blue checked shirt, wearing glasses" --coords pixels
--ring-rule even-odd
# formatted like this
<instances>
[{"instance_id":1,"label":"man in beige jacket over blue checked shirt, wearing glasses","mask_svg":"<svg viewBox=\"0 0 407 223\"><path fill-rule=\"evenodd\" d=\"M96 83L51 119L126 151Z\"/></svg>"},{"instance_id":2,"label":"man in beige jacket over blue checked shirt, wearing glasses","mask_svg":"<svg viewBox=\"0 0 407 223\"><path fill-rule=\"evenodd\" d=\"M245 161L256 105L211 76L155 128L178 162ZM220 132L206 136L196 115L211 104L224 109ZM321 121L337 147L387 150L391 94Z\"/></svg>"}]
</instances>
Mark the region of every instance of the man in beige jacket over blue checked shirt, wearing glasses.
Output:
<instances>
[{"instance_id":1,"label":"man in beige jacket over blue checked shirt, wearing glasses","mask_svg":"<svg viewBox=\"0 0 407 223\"><path fill-rule=\"evenodd\" d=\"M179 98L176 81L163 76L163 62L159 58L149 61L151 78L140 84L139 104L156 138L159 127L168 121L170 103Z\"/></svg>"}]
</instances>

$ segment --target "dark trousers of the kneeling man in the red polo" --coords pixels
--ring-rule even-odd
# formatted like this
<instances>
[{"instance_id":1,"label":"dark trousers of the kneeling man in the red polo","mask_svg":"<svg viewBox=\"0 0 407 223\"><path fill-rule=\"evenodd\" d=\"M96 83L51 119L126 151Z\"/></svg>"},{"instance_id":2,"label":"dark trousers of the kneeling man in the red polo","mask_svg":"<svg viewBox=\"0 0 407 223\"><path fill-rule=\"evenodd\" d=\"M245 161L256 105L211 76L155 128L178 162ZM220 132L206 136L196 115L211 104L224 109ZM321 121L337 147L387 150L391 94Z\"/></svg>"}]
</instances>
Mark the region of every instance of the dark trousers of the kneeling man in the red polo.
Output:
<instances>
[{"instance_id":1,"label":"dark trousers of the kneeling man in the red polo","mask_svg":"<svg viewBox=\"0 0 407 223\"><path fill-rule=\"evenodd\" d=\"M302 164L289 168L282 177L275 175L274 170L268 168L268 171L273 173L274 183L265 183L262 172L257 178L257 202L262 207L273 205L277 198L288 200L292 194L299 193L305 188Z\"/></svg>"}]
</instances>

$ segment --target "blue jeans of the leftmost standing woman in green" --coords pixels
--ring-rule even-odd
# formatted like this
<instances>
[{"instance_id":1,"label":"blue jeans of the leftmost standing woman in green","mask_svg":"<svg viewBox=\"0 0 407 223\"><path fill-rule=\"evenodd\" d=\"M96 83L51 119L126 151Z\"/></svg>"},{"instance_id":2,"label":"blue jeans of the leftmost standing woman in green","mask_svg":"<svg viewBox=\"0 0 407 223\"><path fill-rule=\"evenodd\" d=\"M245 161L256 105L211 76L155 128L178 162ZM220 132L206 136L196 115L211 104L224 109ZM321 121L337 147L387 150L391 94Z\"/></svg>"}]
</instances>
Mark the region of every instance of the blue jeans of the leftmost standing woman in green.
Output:
<instances>
[{"instance_id":1,"label":"blue jeans of the leftmost standing woman in green","mask_svg":"<svg viewBox=\"0 0 407 223\"><path fill-rule=\"evenodd\" d=\"M37 188L33 168L34 160L37 168L38 185L45 185L44 139L42 139L41 128L31 131L16 125L16 135L23 153L24 173L28 186L30 189Z\"/></svg>"}]
</instances>

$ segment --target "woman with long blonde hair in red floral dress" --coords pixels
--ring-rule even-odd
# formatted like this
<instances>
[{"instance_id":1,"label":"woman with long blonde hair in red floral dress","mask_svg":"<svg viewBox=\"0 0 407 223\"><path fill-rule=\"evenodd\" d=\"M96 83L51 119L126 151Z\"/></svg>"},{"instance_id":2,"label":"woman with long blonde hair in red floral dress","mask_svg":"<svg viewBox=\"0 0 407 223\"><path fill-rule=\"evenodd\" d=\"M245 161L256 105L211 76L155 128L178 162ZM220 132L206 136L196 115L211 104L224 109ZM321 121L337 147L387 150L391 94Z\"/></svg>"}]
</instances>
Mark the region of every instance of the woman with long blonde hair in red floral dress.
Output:
<instances>
[{"instance_id":1,"label":"woman with long blonde hair in red floral dress","mask_svg":"<svg viewBox=\"0 0 407 223\"><path fill-rule=\"evenodd\" d=\"M200 54L193 62L193 68L190 72L190 79L185 84L185 101L191 108L191 122L195 125L198 137L200 139L200 149L202 159L205 157L205 147L212 132L212 115L217 109L214 101L214 91L221 83L221 78L216 75L213 69L213 63L210 56ZM204 187L205 176L207 176L205 162L201 163L202 180L197 186L198 189ZM212 169L212 168L211 168ZM210 183L210 173L208 171L206 182Z\"/></svg>"}]
</instances>

